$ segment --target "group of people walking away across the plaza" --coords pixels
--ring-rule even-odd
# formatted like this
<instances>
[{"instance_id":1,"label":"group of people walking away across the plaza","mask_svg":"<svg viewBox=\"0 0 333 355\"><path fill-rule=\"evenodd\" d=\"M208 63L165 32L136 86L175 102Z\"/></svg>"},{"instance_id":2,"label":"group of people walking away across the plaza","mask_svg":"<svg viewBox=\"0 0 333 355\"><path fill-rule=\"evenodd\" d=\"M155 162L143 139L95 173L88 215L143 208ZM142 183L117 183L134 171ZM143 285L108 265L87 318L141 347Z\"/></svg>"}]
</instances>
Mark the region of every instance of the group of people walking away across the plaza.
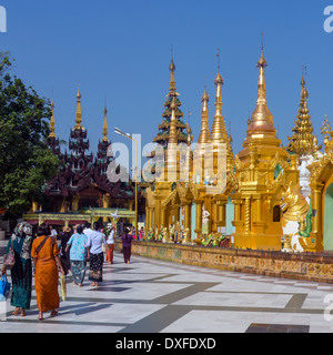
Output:
<instances>
[{"instance_id":1,"label":"group of people walking away across the plaza","mask_svg":"<svg viewBox=\"0 0 333 355\"><path fill-rule=\"evenodd\" d=\"M105 246L105 262L113 263L115 225L112 226L108 239L101 232L98 222L84 226L75 225L74 233L70 227L64 227L61 243L58 246L57 237L52 235L48 224L42 223L32 237L32 226L27 222L19 223L10 237L6 253L12 247L16 262L11 268L12 295L11 305L14 306L13 315L26 316L26 310L30 310L32 291L32 266L34 267L34 288L39 308L38 320L43 320L43 313L51 312L51 316L58 314L60 298L58 293L59 272L67 275L69 270L73 276L73 284L82 286L87 262L89 261L90 286L98 286L103 281L103 262ZM133 236L130 229L122 236L122 251L124 262L130 263L131 241ZM33 265L32 265L33 261ZM1 268L1 275L7 270Z\"/></svg>"}]
</instances>

